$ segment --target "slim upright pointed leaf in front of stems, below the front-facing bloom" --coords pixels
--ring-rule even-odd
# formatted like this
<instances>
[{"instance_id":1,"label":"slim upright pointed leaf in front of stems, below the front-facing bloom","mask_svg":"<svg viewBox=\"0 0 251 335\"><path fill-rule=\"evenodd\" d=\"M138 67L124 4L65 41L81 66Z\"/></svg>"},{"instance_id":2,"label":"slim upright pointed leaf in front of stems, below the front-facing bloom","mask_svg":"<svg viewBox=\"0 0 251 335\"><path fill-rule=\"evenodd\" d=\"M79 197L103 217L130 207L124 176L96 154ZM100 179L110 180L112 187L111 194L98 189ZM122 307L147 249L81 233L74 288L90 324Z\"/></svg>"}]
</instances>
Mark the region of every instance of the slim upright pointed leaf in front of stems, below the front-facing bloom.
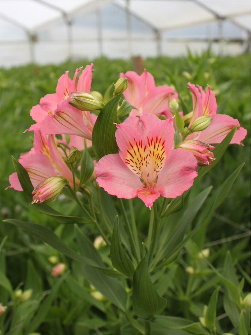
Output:
<instances>
[{"instance_id":1,"label":"slim upright pointed leaf in front of stems, below the front-facing bloom","mask_svg":"<svg viewBox=\"0 0 251 335\"><path fill-rule=\"evenodd\" d=\"M122 247L117 216L114 219L110 255L111 263L114 268L127 275L128 278L133 279L134 266L126 251Z\"/></svg>"}]
</instances>

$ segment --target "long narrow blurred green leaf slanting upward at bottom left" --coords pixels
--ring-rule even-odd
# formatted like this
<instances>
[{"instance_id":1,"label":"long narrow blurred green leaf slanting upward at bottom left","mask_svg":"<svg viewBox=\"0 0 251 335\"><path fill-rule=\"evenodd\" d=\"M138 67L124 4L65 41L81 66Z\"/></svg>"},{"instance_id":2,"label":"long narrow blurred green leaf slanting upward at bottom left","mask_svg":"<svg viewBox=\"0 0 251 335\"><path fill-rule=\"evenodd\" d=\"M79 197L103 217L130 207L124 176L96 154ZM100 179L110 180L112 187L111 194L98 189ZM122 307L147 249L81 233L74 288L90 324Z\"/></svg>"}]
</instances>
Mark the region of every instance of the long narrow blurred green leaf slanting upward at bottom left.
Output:
<instances>
[{"instance_id":1,"label":"long narrow blurred green leaf slanting upward at bottom left","mask_svg":"<svg viewBox=\"0 0 251 335\"><path fill-rule=\"evenodd\" d=\"M25 332L26 334L34 332L44 321L53 303L53 300L56 298L60 285L67 278L68 275L69 271L64 273L59 279L56 279L56 282L52 286L50 294L43 300L34 319L29 323Z\"/></svg>"}]
</instances>

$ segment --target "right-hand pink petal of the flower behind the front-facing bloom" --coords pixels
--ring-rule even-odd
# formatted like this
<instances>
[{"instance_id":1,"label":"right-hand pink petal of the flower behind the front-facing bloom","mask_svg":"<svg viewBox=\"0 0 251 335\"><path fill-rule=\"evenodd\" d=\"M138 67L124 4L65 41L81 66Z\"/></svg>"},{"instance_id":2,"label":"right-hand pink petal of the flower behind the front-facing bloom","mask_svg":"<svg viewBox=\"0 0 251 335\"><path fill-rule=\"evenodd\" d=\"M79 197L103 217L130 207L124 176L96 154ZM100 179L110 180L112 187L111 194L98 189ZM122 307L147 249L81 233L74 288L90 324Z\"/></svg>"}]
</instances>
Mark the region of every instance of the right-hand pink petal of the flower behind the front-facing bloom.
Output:
<instances>
[{"instance_id":1,"label":"right-hand pink petal of the flower behind the front-facing bloom","mask_svg":"<svg viewBox=\"0 0 251 335\"><path fill-rule=\"evenodd\" d=\"M150 90L143 102L142 113L161 114L168 110L168 98L174 94L169 86L157 86Z\"/></svg>"}]
</instances>

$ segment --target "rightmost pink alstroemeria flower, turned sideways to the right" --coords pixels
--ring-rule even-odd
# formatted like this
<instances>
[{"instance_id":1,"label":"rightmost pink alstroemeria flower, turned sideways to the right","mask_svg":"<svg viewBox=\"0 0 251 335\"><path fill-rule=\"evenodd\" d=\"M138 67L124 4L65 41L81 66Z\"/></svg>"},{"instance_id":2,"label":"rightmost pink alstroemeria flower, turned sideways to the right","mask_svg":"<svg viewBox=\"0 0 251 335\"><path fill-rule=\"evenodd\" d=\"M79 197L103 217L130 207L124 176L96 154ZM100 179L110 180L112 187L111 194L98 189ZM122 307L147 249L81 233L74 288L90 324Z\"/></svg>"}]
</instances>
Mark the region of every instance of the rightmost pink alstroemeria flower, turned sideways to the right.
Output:
<instances>
[{"instance_id":1,"label":"rightmost pink alstroemeria flower, turned sideways to the right","mask_svg":"<svg viewBox=\"0 0 251 335\"><path fill-rule=\"evenodd\" d=\"M209 87L204 92L201 86L197 88L190 83L188 83L188 89L192 92L193 98L193 114L189 126L196 118L202 115L212 116L213 120L205 130L192 133L186 139L194 139L208 144L219 144L238 124L238 128L230 143L241 144L241 141L247 135L246 129L240 127L237 119L233 119L231 116L225 114L216 114L217 103L214 92Z\"/></svg>"}]
</instances>

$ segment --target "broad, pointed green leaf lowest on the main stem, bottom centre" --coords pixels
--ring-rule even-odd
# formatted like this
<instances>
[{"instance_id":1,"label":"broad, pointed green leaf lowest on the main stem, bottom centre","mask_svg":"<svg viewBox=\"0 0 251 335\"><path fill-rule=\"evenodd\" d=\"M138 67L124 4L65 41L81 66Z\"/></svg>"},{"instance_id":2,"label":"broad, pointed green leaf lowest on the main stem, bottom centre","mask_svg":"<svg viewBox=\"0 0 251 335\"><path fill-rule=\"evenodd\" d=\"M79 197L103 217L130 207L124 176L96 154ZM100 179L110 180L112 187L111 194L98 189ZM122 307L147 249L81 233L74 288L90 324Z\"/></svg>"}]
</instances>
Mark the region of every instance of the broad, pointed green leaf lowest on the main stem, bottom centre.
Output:
<instances>
[{"instance_id":1,"label":"broad, pointed green leaf lowest on the main stem, bottom centre","mask_svg":"<svg viewBox=\"0 0 251 335\"><path fill-rule=\"evenodd\" d=\"M147 253L147 249L145 248ZM162 298L155 290L148 273L146 257L137 266L133 276L133 309L143 319L152 318L166 306L166 299Z\"/></svg>"}]
</instances>

